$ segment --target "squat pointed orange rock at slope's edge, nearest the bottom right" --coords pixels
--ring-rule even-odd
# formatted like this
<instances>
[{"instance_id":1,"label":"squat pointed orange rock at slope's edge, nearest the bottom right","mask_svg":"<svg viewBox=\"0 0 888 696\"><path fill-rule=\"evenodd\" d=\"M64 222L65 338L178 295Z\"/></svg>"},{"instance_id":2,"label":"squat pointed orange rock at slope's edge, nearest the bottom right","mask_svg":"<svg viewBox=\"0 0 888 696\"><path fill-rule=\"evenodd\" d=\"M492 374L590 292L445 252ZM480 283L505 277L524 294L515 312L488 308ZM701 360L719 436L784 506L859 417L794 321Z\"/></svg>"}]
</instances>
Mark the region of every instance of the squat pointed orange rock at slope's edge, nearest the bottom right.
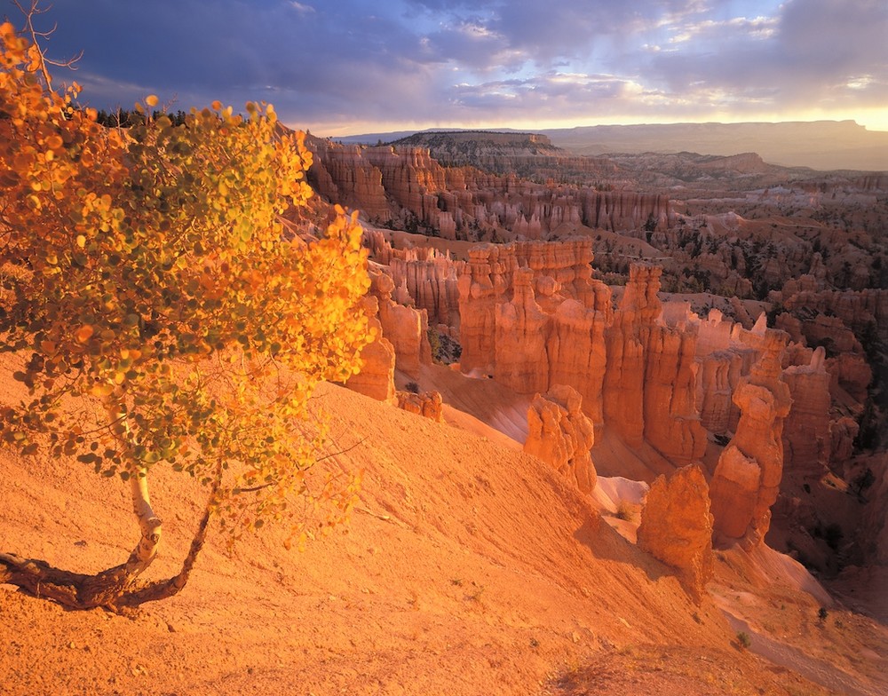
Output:
<instances>
[{"instance_id":1,"label":"squat pointed orange rock at slope's edge, nearest the bottom right","mask_svg":"<svg viewBox=\"0 0 888 696\"><path fill-rule=\"evenodd\" d=\"M690 464L654 480L638 526L638 547L676 568L698 603L713 575L712 521L706 476Z\"/></svg>"}]
</instances>

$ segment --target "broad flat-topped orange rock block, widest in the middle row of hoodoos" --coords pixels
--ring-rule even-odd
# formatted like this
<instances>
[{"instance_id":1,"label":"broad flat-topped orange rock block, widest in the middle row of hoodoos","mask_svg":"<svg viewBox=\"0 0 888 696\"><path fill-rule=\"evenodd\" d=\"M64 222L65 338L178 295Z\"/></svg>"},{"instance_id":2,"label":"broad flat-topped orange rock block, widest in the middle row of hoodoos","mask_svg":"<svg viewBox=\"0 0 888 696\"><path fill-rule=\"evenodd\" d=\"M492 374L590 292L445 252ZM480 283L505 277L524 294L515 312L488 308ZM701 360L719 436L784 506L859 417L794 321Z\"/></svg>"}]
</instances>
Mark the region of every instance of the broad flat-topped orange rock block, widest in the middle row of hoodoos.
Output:
<instances>
[{"instance_id":1,"label":"broad flat-topped orange rock block, widest in the middle row of hoodoos","mask_svg":"<svg viewBox=\"0 0 888 696\"><path fill-rule=\"evenodd\" d=\"M610 290L591 278L591 241L471 249L459 279L462 370L520 393L567 384L602 422Z\"/></svg>"}]
</instances>

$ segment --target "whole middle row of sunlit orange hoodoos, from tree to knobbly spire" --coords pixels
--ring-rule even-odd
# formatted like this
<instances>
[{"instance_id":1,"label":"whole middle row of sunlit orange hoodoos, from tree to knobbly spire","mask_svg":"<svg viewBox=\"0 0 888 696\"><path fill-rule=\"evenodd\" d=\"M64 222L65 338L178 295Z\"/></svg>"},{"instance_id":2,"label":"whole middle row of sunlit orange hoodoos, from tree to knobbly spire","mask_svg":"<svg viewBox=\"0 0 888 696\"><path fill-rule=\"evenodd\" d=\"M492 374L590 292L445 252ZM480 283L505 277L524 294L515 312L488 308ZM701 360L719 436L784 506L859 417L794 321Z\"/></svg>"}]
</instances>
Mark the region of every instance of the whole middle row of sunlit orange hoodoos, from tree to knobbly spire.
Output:
<instances>
[{"instance_id":1,"label":"whole middle row of sunlit orange hoodoos, from tree to knobbly spire","mask_svg":"<svg viewBox=\"0 0 888 696\"><path fill-rule=\"evenodd\" d=\"M458 266L428 251L391 249L372 235L370 243L390 262L374 275L372 293L383 335L408 375L427 360L427 310L413 308L411 289L432 286L438 317L462 344L465 374L524 394L570 387L596 429L629 447L654 447L677 467L700 461L710 438L730 440L710 471L720 543L761 542L784 459L816 475L850 447L852 424L830 420L832 377L822 348L788 351L789 334L767 328L764 314L746 329L718 311L702 319L687 303L663 305L659 267L632 265L614 310L610 289L591 277L588 239L478 245ZM784 431L793 394L799 406ZM533 417L542 422L540 414Z\"/></svg>"}]
</instances>

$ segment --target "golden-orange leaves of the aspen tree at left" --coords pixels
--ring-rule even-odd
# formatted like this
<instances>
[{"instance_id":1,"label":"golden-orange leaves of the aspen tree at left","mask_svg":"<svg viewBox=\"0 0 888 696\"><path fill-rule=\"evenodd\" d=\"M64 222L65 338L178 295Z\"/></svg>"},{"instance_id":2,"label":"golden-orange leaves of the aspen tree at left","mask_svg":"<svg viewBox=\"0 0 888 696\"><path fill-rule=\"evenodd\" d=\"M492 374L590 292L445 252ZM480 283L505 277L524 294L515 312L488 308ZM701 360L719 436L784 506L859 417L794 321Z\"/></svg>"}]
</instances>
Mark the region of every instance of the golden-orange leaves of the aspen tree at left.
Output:
<instances>
[{"instance_id":1,"label":"golden-orange leaves of the aspen tree at left","mask_svg":"<svg viewBox=\"0 0 888 696\"><path fill-rule=\"evenodd\" d=\"M218 102L107 130L76 85L44 89L9 23L0 48L0 350L26 356L31 394L0 409L0 439L123 479L228 470L235 535L300 500L347 514L353 480L309 486L318 436L298 426L315 384L360 368L366 252L343 210L318 241L284 238L312 194L304 134Z\"/></svg>"}]
</instances>

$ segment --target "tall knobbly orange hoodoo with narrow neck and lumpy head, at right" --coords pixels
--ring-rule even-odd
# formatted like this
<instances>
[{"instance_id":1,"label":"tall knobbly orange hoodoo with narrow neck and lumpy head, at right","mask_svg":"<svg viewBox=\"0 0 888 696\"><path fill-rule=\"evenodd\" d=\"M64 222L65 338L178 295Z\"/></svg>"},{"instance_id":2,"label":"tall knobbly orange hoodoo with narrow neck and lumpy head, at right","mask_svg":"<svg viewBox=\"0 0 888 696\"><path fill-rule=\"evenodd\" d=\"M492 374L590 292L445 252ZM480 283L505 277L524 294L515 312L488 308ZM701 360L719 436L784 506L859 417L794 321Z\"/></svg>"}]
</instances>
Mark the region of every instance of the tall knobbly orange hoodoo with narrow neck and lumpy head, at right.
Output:
<instances>
[{"instance_id":1,"label":"tall knobbly orange hoodoo with narrow neck and lumpy head, at right","mask_svg":"<svg viewBox=\"0 0 888 696\"><path fill-rule=\"evenodd\" d=\"M781 381L781 352L788 336L766 328L763 314L752 331L738 336L759 356L733 393L741 415L718 458L710 482L716 542L752 549L765 538L771 506L783 473L783 421L792 403Z\"/></svg>"}]
</instances>

